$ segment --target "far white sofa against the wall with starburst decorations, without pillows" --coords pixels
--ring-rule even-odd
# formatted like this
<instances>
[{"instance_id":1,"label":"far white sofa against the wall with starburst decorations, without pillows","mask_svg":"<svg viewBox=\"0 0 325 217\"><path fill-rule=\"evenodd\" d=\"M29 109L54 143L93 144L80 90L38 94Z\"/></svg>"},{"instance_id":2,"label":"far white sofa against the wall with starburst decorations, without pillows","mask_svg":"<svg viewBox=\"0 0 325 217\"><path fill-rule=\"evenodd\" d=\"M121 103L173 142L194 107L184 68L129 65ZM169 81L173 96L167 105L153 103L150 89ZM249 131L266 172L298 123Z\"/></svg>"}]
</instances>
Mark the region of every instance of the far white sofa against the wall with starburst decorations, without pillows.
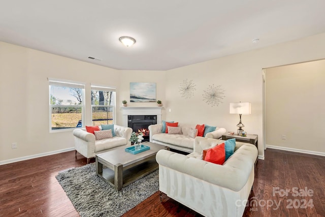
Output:
<instances>
[{"instance_id":1,"label":"far white sofa against the wall with starburst decorations, without pillows","mask_svg":"<svg viewBox=\"0 0 325 217\"><path fill-rule=\"evenodd\" d=\"M150 142L160 145L166 145L176 150L185 152L193 152L194 139L189 136L190 129L195 129L196 125L189 125L186 123L179 123L178 127L181 127L182 135L180 134L168 134L161 133L163 124L158 123L156 125L149 126L149 140ZM215 131L206 134L206 138L219 139L222 134L226 133L224 128L216 128Z\"/></svg>"}]
</instances>

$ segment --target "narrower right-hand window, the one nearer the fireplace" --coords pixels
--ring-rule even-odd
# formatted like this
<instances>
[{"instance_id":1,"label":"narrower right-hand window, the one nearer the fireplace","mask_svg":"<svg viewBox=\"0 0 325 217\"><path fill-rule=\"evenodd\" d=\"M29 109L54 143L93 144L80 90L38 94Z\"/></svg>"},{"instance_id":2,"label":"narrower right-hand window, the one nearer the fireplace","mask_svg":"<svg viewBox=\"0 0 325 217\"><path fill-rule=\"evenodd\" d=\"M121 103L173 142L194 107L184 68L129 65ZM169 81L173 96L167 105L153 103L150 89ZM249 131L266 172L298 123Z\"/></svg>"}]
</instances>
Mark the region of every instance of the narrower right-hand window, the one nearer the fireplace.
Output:
<instances>
[{"instance_id":1,"label":"narrower right-hand window, the one nearer the fireplace","mask_svg":"<svg viewBox=\"0 0 325 217\"><path fill-rule=\"evenodd\" d=\"M91 85L92 125L115 123L115 88Z\"/></svg>"}]
</instances>

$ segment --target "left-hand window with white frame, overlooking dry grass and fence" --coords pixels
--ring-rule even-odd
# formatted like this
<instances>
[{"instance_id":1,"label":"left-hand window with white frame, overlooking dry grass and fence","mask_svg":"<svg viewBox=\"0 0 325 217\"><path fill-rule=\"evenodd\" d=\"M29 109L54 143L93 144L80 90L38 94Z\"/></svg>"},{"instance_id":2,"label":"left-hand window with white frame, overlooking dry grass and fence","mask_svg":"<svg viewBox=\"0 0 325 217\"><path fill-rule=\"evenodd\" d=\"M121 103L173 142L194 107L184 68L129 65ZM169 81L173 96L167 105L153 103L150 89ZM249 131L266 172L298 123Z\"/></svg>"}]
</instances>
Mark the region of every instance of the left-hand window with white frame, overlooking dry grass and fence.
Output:
<instances>
[{"instance_id":1,"label":"left-hand window with white frame, overlooking dry grass and fence","mask_svg":"<svg viewBox=\"0 0 325 217\"><path fill-rule=\"evenodd\" d=\"M83 126L84 92L82 83L49 78L50 132Z\"/></svg>"}]
</instances>

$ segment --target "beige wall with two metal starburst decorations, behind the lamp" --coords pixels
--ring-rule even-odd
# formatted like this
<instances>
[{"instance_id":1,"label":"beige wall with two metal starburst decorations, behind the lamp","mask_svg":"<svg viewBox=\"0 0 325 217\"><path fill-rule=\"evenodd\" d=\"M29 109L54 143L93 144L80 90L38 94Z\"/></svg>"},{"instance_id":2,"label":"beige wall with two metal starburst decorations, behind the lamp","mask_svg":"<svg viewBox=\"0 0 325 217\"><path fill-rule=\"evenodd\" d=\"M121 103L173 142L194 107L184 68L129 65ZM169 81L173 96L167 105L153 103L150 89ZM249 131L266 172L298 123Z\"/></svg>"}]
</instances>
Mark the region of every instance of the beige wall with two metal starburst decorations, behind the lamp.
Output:
<instances>
[{"instance_id":1,"label":"beige wall with two metal starburst decorations, behind the lamp","mask_svg":"<svg viewBox=\"0 0 325 217\"><path fill-rule=\"evenodd\" d=\"M325 58L324 40L325 34L320 34L169 70L166 119L206 123L236 131L239 116L229 114L229 103L251 102L251 114L243 115L242 122L247 133L258 135L258 154L263 158L263 69ZM181 98L178 91L180 82L186 78L197 84L196 93L189 100ZM221 85L225 90L223 103L217 107L211 107L202 100L203 90L212 84ZM304 132L302 134L308 136Z\"/></svg>"}]
</instances>

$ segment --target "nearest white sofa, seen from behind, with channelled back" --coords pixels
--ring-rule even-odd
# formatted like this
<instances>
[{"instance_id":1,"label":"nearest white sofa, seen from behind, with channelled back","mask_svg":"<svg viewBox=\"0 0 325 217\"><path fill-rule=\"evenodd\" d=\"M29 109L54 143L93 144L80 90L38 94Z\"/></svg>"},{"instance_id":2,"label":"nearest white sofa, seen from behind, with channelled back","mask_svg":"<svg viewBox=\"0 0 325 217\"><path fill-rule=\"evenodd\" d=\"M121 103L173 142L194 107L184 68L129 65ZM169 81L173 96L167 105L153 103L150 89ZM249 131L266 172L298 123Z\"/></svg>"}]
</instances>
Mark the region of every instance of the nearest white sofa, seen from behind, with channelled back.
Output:
<instances>
[{"instance_id":1,"label":"nearest white sofa, seen from behind, with channelled back","mask_svg":"<svg viewBox=\"0 0 325 217\"><path fill-rule=\"evenodd\" d=\"M204 216L242 216L254 182L257 148L236 142L223 165L201 160L202 150L222 142L196 137L194 152L187 156L158 151L159 191Z\"/></svg>"}]
</instances>

